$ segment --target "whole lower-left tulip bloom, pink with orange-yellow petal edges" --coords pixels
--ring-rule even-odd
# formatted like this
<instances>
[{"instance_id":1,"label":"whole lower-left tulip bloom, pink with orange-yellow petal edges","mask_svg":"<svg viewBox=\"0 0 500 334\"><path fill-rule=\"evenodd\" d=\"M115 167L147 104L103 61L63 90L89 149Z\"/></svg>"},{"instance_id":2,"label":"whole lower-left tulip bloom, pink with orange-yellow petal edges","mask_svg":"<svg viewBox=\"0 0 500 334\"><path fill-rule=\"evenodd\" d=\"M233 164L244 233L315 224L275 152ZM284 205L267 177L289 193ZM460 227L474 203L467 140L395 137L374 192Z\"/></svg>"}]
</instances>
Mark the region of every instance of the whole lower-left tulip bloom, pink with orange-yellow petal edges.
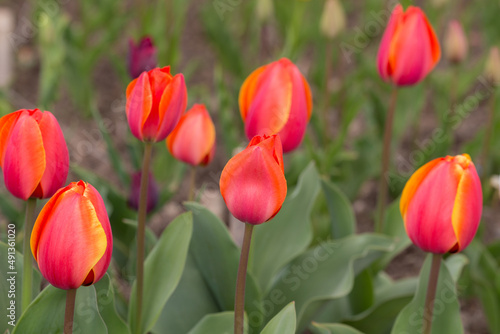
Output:
<instances>
[{"instance_id":1,"label":"whole lower-left tulip bloom, pink with orange-yellow petal edges","mask_svg":"<svg viewBox=\"0 0 500 334\"><path fill-rule=\"evenodd\" d=\"M72 182L45 204L31 234L31 252L43 277L69 290L99 281L108 269L113 236L101 195Z\"/></svg>"}]
</instances>

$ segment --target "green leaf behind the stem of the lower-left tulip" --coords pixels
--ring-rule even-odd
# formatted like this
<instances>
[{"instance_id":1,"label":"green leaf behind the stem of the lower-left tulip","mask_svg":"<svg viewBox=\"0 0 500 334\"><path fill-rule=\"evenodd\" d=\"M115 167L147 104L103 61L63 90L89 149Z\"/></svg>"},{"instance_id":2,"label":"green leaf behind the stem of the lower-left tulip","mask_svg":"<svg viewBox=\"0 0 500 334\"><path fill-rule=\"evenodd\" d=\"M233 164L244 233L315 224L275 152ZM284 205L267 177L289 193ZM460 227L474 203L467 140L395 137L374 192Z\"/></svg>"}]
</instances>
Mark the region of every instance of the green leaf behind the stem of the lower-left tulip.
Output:
<instances>
[{"instance_id":1,"label":"green leaf behind the stem of the lower-left tulip","mask_svg":"<svg viewBox=\"0 0 500 334\"><path fill-rule=\"evenodd\" d=\"M62 333L66 291L52 285L47 286L28 306L12 334ZM93 285L80 287L76 292L74 333L107 334L108 330L97 305Z\"/></svg>"}]
</instances>

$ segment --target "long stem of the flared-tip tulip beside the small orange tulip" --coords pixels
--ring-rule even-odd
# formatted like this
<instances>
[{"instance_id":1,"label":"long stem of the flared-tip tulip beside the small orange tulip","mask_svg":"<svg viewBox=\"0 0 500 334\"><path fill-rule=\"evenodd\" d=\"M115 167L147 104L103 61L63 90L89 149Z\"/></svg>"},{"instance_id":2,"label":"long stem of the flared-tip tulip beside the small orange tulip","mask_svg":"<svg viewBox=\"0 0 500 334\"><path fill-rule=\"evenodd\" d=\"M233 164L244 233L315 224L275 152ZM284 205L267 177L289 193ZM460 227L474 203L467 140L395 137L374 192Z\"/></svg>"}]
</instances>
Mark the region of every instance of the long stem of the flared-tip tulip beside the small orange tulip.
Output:
<instances>
[{"instance_id":1,"label":"long stem of the flared-tip tulip beside the small orange tulip","mask_svg":"<svg viewBox=\"0 0 500 334\"><path fill-rule=\"evenodd\" d=\"M135 332L140 334L142 327L142 291L144 285L144 239L146 235L146 214L148 206L148 183L149 166L153 143L146 142L144 145L144 159L142 161L141 189L139 193L139 214L137 224L137 328Z\"/></svg>"}]
</instances>

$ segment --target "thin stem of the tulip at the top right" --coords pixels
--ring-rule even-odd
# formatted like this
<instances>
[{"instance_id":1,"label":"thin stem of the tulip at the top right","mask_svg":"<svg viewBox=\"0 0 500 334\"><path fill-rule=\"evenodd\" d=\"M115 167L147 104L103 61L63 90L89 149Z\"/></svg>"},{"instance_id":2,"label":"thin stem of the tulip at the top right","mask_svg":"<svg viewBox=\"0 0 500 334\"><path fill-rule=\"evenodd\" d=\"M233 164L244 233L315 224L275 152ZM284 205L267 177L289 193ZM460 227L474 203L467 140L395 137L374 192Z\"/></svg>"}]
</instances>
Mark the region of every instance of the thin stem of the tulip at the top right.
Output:
<instances>
[{"instance_id":1,"label":"thin stem of the tulip at the top right","mask_svg":"<svg viewBox=\"0 0 500 334\"><path fill-rule=\"evenodd\" d=\"M382 148L382 169L378 186L378 219L375 222L375 232L382 233L384 230L384 214L387 202L387 182L386 174L389 170L389 157L391 153L392 123L394 121L394 111L398 98L398 89L394 86L391 94L389 111L385 119L384 146Z\"/></svg>"}]
</instances>

